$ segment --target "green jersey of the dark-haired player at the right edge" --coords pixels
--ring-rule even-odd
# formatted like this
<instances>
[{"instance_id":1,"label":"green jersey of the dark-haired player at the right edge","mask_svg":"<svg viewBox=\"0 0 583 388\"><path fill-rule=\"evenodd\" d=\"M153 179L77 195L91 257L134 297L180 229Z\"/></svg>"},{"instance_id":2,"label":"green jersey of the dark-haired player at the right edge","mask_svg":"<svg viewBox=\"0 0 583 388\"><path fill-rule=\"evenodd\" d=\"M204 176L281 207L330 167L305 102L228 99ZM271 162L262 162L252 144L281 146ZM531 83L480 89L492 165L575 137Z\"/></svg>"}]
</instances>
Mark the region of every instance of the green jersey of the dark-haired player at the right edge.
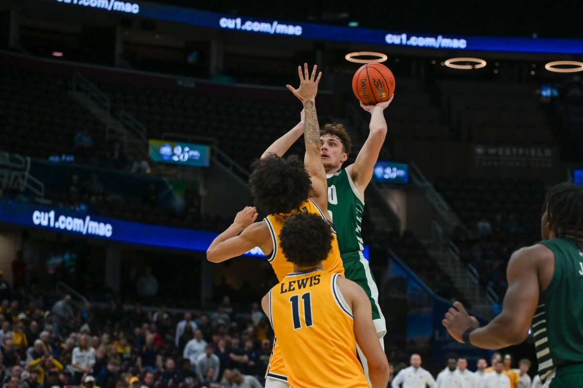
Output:
<instances>
[{"instance_id":1,"label":"green jersey of the dark-haired player at the right edge","mask_svg":"<svg viewBox=\"0 0 583 388\"><path fill-rule=\"evenodd\" d=\"M583 253L571 239L540 244L554 255L553 279L532 319L539 375L545 381L554 369L583 363Z\"/></svg>"}]
</instances>

